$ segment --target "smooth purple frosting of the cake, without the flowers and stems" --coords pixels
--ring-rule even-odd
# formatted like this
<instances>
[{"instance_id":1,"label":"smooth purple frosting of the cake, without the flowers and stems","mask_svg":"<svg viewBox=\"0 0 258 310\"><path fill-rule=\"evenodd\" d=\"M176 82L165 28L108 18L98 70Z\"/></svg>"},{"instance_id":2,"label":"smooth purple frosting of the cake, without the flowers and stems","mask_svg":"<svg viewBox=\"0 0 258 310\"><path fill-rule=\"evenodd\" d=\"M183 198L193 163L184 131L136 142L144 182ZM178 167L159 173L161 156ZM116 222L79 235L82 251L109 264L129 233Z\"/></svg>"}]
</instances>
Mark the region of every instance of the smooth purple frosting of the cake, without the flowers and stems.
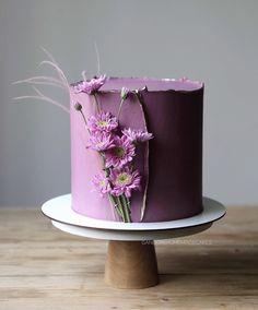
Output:
<instances>
[{"instance_id":1,"label":"smooth purple frosting of the cake, without the flowers and stems","mask_svg":"<svg viewBox=\"0 0 258 310\"><path fill-rule=\"evenodd\" d=\"M122 129L148 131L149 187L142 222L172 220L202 211L202 99L203 84L180 80L108 78L96 93L101 107L117 116L122 87L139 91L145 119L137 96L130 95L122 105L119 123ZM95 114L93 98L75 93L71 102L79 103L89 118ZM72 208L85 216L116 220L107 196L92 191L91 180L99 174L103 163L98 154L85 148L89 132L80 114L71 104L71 171ZM136 168L146 182L145 146L137 146ZM140 222L143 191L131 195L132 220Z\"/></svg>"}]
</instances>

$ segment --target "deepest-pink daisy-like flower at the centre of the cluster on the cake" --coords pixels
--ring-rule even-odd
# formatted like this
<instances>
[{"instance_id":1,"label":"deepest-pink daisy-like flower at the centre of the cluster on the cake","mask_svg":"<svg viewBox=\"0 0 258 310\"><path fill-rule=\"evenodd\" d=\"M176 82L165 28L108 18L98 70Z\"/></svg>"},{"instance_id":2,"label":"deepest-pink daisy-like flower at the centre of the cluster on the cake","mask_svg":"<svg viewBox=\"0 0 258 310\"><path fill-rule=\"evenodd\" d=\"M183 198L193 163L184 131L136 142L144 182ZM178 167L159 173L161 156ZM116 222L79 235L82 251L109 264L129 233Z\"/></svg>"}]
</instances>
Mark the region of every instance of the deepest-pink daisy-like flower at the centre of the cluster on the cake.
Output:
<instances>
[{"instance_id":1,"label":"deepest-pink daisy-like flower at the centre of the cluster on the cake","mask_svg":"<svg viewBox=\"0 0 258 310\"><path fill-rule=\"evenodd\" d=\"M115 146L107 150L106 155L106 167L120 168L132 160L136 156L136 146L127 139L126 135L121 138L114 138Z\"/></svg>"}]
</instances>

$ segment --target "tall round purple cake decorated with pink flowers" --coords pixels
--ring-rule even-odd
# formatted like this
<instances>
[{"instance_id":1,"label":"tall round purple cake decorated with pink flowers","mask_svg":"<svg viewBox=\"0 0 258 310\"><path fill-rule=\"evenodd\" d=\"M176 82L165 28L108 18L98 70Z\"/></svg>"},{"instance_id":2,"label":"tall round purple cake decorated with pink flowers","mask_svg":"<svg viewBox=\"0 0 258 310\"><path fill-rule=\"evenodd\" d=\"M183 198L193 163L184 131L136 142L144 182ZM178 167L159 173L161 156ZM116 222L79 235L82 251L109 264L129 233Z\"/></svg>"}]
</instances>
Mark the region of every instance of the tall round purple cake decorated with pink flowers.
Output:
<instances>
[{"instance_id":1,"label":"tall round purple cake decorated with pink flowers","mask_svg":"<svg viewBox=\"0 0 258 310\"><path fill-rule=\"evenodd\" d=\"M124 222L202 212L202 83L101 76L70 96L74 212Z\"/></svg>"}]
</instances>

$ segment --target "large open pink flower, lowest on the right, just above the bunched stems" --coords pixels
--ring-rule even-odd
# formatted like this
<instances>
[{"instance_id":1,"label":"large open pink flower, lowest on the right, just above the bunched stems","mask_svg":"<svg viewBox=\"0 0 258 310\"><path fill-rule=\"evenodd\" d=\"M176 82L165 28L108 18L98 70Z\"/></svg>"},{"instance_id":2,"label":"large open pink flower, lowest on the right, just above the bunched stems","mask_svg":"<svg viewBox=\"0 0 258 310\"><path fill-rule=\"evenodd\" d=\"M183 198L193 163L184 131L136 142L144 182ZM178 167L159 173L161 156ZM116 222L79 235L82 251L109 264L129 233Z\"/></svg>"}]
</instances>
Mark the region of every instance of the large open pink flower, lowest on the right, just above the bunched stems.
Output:
<instances>
[{"instance_id":1,"label":"large open pink flower, lowest on the right, just above the bunched stems","mask_svg":"<svg viewBox=\"0 0 258 310\"><path fill-rule=\"evenodd\" d=\"M109 176L113 189L112 194L119 196L125 193L127 198L131 196L132 190L140 189L141 177L139 172L131 171L130 168L113 169Z\"/></svg>"}]
</instances>

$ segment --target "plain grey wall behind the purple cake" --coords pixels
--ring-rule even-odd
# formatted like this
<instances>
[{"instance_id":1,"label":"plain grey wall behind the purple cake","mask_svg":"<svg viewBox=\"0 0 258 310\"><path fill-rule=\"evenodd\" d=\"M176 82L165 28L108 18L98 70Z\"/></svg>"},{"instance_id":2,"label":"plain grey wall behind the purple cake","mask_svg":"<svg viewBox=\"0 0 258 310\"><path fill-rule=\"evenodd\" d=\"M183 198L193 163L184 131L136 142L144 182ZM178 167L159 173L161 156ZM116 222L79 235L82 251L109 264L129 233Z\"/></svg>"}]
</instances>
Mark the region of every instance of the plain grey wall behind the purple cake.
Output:
<instances>
[{"instance_id":1,"label":"plain grey wall behind the purple cake","mask_svg":"<svg viewBox=\"0 0 258 310\"><path fill-rule=\"evenodd\" d=\"M258 204L258 1L0 0L0 206L39 205L70 191L69 116L13 81L81 71L204 81L206 195ZM48 94L68 97L51 88Z\"/></svg>"}]
</instances>

